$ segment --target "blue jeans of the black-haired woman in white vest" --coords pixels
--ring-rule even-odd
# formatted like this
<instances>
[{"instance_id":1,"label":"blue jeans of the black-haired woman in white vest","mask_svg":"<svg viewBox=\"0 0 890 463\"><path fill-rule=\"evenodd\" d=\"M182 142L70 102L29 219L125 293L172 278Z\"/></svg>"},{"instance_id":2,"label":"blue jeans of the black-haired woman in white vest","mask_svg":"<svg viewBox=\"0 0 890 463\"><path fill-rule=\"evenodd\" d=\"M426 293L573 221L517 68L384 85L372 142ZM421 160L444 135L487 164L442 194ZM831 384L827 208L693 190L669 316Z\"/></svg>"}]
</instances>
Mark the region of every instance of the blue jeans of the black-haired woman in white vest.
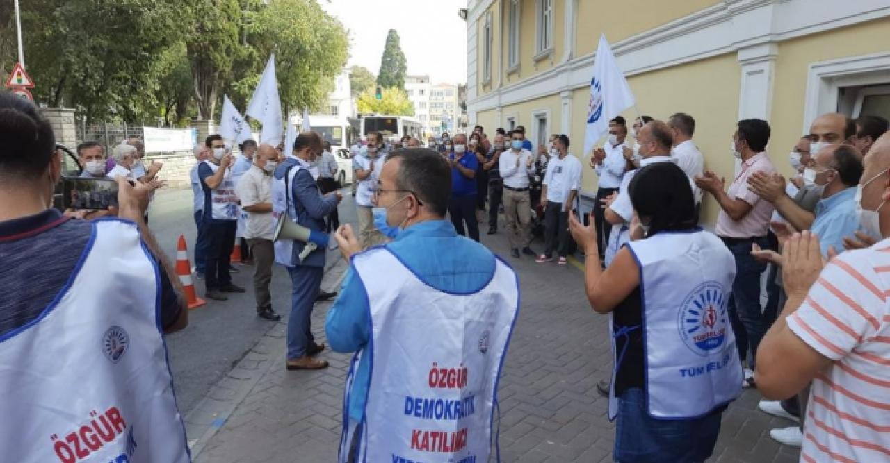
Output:
<instances>
[{"instance_id":1,"label":"blue jeans of the black-haired woman in white vest","mask_svg":"<svg viewBox=\"0 0 890 463\"><path fill-rule=\"evenodd\" d=\"M716 411L699 419L654 419L646 412L646 393L631 387L619 396L613 457L634 463L704 461L714 451L722 415Z\"/></svg>"}]
</instances>

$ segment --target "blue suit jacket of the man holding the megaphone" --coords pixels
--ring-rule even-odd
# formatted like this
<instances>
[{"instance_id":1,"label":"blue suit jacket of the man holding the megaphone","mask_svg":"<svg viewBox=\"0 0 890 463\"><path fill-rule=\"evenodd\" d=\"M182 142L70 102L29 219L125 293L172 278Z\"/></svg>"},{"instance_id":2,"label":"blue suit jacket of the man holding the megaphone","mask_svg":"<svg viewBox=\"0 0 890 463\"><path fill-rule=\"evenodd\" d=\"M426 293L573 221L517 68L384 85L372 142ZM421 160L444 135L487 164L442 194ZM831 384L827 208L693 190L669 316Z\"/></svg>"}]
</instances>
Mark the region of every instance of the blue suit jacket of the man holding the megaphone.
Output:
<instances>
[{"instance_id":1,"label":"blue suit jacket of the man holding the megaphone","mask_svg":"<svg viewBox=\"0 0 890 463\"><path fill-rule=\"evenodd\" d=\"M322 196L321 190L312 174L309 173L309 164L292 156L275 169L275 179L283 179L285 173L297 164L302 164L303 169L296 172L294 183L290 185L290 201L296 210L296 223L305 228L323 232L325 230L325 217L336 209L336 196ZM305 243L294 241L294 261L297 266L324 267L328 250L319 248L306 257L303 262L297 256L303 251Z\"/></svg>"}]
</instances>

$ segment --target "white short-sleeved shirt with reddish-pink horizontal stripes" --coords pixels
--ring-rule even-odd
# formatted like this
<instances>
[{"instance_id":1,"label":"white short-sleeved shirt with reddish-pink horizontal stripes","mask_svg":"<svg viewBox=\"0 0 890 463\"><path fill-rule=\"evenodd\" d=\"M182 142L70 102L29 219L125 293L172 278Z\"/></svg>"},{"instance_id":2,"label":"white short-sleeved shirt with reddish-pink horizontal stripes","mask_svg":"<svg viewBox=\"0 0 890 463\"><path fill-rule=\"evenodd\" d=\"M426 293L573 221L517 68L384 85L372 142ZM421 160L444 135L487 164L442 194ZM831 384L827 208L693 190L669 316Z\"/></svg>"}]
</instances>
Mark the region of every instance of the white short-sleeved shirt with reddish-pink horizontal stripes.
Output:
<instances>
[{"instance_id":1,"label":"white short-sleeved shirt with reddish-pink horizontal stripes","mask_svg":"<svg viewBox=\"0 0 890 463\"><path fill-rule=\"evenodd\" d=\"M890 239L832 259L789 329L834 363L813 379L804 461L890 460Z\"/></svg>"}]
</instances>

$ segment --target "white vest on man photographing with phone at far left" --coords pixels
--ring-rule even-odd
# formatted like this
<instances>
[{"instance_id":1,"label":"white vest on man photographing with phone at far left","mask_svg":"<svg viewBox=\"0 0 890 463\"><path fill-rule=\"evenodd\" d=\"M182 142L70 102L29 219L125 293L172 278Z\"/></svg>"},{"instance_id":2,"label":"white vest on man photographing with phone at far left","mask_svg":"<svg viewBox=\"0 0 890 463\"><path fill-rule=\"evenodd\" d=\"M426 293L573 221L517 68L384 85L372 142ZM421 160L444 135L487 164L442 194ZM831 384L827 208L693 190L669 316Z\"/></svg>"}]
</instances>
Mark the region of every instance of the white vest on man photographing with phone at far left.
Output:
<instances>
[{"instance_id":1,"label":"white vest on man photographing with phone at far left","mask_svg":"<svg viewBox=\"0 0 890 463\"><path fill-rule=\"evenodd\" d=\"M133 224L97 220L69 286L0 339L4 461L190 461L158 315L158 267Z\"/></svg>"}]
</instances>

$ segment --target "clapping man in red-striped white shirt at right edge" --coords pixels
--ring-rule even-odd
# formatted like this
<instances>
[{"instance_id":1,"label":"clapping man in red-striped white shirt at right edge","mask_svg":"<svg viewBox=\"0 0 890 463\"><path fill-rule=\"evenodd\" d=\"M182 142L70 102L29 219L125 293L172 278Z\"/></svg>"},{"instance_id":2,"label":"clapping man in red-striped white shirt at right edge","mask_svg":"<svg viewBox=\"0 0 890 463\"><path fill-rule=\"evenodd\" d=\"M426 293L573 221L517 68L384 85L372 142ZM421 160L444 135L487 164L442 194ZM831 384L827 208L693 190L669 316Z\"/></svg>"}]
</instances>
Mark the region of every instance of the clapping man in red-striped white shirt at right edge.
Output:
<instances>
[{"instance_id":1,"label":"clapping man in red-striped white shirt at right edge","mask_svg":"<svg viewBox=\"0 0 890 463\"><path fill-rule=\"evenodd\" d=\"M825 264L816 235L792 236L782 255L788 302L757 351L765 396L787 398L813 381L807 462L890 459L890 134L863 166L857 213L883 241Z\"/></svg>"}]
</instances>

